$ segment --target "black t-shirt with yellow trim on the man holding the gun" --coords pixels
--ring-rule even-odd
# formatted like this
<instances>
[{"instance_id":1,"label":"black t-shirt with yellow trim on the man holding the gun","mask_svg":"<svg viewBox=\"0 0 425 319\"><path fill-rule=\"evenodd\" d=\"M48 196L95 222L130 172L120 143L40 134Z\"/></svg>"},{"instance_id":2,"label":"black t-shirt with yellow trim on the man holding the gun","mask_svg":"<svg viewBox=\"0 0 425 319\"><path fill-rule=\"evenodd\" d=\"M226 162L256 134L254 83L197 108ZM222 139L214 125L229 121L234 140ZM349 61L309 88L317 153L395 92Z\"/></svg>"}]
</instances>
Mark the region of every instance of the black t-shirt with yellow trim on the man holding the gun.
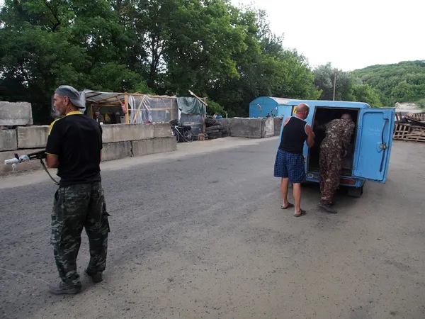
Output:
<instances>
[{"instance_id":1,"label":"black t-shirt with yellow trim on the man holding the gun","mask_svg":"<svg viewBox=\"0 0 425 319\"><path fill-rule=\"evenodd\" d=\"M50 125L46 153L59 157L60 186L101 181L102 128L79 111Z\"/></svg>"}]
</instances>

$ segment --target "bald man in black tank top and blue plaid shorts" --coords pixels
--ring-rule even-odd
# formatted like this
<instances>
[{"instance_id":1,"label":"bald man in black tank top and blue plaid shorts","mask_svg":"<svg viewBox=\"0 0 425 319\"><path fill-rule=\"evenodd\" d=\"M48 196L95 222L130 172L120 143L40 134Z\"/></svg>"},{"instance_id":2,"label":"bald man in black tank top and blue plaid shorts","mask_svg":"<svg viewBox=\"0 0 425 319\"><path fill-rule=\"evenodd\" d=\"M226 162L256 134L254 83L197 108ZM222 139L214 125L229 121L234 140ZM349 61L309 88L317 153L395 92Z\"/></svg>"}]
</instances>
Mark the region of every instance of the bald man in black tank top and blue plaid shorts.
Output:
<instances>
[{"instance_id":1,"label":"bald man in black tank top and blue plaid shorts","mask_svg":"<svg viewBox=\"0 0 425 319\"><path fill-rule=\"evenodd\" d=\"M304 121L310 107L306 103L300 103L297 106L296 116L288 116L283 123L282 136L274 166L274 177L282 179L280 191L282 193L282 209L294 207L293 203L288 202L288 184L293 184L293 196L295 200L295 213L298 217L305 215L301 209L301 182L305 181L305 163L302 151L304 142L308 147L314 145L314 133L311 126Z\"/></svg>"}]
</instances>

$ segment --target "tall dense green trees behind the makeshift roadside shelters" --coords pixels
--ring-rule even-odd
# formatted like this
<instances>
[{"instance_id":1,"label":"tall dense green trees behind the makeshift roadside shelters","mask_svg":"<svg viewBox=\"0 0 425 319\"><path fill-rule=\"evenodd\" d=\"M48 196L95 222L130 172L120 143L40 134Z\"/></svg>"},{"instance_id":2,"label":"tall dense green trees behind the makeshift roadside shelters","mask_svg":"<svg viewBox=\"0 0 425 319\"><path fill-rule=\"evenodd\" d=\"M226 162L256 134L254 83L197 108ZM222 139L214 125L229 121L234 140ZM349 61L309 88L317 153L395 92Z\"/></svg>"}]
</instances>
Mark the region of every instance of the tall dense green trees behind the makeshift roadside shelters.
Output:
<instances>
[{"instance_id":1,"label":"tall dense green trees behind the makeshift roadside shelters","mask_svg":"<svg viewBox=\"0 0 425 319\"><path fill-rule=\"evenodd\" d=\"M30 101L48 123L60 84L207 96L208 111L248 115L257 96L317 99L305 57L285 50L263 11L227 0L6 0L0 99Z\"/></svg>"}]
</instances>

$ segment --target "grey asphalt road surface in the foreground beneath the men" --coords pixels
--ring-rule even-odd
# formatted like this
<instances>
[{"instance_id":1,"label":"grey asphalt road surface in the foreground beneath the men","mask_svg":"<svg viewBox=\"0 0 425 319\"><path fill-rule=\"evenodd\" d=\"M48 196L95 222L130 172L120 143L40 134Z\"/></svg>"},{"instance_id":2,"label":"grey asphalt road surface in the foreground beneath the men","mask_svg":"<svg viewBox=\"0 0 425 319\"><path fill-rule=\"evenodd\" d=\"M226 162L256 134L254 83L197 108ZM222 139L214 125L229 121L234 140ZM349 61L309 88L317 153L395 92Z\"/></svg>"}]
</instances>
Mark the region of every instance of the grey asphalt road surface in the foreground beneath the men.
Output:
<instances>
[{"instance_id":1,"label":"grey asphalt road surface in the foreground beneath the men","mask_svg":"<svg viewBox=\"0 0 425 319\"><path fill-rule=\"evenodd\" d=\"M105 280L82 275L84 234L77 296L46 290L55 185L3 184L0 318L425 318L424 145L395 142L387 184L339 194L336 215L306 187L294 218L280 209L276 144L106 164Z\"/></svg>"}]
</instances>

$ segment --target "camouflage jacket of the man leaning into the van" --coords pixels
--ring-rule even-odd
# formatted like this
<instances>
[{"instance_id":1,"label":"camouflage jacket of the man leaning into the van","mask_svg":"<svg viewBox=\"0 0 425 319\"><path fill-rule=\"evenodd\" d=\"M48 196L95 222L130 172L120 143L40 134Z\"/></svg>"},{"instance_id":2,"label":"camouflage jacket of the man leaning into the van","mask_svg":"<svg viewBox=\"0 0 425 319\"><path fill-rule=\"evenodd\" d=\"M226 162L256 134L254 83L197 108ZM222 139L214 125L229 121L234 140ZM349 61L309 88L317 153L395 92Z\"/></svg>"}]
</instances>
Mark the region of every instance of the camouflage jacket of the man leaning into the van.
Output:
<instances>
[{"instance_id":1,"label":"camouflage jacket of the man leaning into the van","mask_svg":"<svg viewBox=\"0 0 425 319\"><path fill-rule=\"evenodd\" d=\"M324 125L320 125L318 129L325 130L326 132L326 136L320 147L339 149L341 151L347 150L355 126L353 121L342 118L335 118Z\"/></svg>"}]
</instances>

